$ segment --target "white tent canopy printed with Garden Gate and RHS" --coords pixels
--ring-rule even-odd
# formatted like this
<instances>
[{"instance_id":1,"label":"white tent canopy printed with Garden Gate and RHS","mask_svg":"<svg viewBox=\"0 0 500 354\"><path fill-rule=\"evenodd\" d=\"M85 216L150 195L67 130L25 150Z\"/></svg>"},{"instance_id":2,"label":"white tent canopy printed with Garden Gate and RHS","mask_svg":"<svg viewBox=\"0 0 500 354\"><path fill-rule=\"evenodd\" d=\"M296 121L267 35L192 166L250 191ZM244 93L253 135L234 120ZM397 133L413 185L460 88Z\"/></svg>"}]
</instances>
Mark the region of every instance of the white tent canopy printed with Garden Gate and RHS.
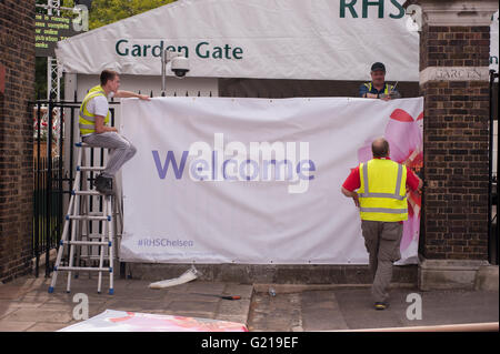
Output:
<instances>
[{"instance_id":1,"label":"white tent canopy printed with Garden Gate and RHS","mask_svg":"<svg viewBox=\"0 0 500 354\"><path fill-rule=\"evenodd\" d=\"M418 26L403 3L182 0L69 38L56 53L84 74L159 75L169 49L189 58L190 77L370 80L381 61L387 80L418 81Z\"/></svg>"}]
</instances>

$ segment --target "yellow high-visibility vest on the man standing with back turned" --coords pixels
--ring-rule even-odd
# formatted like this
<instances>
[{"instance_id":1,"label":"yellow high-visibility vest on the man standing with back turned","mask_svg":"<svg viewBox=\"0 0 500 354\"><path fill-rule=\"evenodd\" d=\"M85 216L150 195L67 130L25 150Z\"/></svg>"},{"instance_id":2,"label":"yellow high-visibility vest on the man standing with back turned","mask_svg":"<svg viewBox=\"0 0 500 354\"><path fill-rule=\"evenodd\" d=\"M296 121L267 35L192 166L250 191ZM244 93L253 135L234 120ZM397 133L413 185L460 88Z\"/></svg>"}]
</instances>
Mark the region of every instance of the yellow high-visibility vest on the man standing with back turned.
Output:
<instances>
[{"instance_id":1,"label":"yellow high-visibility vest on the man standing with back turned","mask_svg":"<svg viewBox=\"0 0 500 354\"><path fill-rule=\"evenodd\" d=\"M397 222L408 219L407 169L391 160L373 159L359 166L361 220Z\"/></svg>"}]
</instances>

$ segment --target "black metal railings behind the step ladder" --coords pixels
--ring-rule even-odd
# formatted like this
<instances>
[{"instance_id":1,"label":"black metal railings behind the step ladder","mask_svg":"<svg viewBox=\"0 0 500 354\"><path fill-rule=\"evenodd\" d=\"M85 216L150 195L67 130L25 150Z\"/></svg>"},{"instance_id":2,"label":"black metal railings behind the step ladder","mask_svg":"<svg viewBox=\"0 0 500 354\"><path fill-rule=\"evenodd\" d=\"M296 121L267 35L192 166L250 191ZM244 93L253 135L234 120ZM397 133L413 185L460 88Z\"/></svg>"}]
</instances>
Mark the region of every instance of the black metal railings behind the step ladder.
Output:
<instances>
[{"instance_id":1,"label":"black metal railings behind the step ladder","mask_svg":"<svg viewBox=\"0 0 500 354\"><path fill-rule=\"evenodd\" d=\"M31 102L30 112L33 114L33 229L32 229L32 256L34 259L34 275L39 276L40 260L44 255L44 274L50 275L53 264L50 261L50 252L57 249L62 235L64 205L71 196L71 188L74 182L74 155L73 149L66 149L69 158L64 166L64 148L73 146L79 142L74 136L78 124L78 113L81 102L77 101L42 101ZM110 103L111 125L114 127L114 107L119 102ZM32 109L31 109L32 108ZM57 128L54 128L54 122ZM69 136L64 135L69 127ZM91 160L96 150L91 149ZM92 179L92 175L91 175Z\"/></svg>"}]
</instances>

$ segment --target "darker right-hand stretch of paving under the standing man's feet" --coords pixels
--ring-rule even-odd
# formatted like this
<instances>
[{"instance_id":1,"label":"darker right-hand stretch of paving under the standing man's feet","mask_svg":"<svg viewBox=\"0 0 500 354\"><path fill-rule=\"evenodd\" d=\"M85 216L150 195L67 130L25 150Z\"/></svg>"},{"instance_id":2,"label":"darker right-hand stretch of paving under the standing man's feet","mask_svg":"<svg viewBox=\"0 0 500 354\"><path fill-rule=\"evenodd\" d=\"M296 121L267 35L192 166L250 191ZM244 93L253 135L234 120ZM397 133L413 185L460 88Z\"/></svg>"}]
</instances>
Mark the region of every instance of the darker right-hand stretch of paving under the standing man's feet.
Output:
<instances>
[{"instance_id":1,"label":"darker right-hand stretch of paving under the standing man's feet","mask_svg":"<svg viewBox=\"0 0 500 354\"><path fill-rule=\"evenodd\" d=\"M498 322L498 292L391 290L386 311L372 307L370 289L334 289L253 296L250 331L337 331ZM408 320L419 294L421 320ZM410 315L417 314L410 309Z\"/></svg>"}]
</instances>

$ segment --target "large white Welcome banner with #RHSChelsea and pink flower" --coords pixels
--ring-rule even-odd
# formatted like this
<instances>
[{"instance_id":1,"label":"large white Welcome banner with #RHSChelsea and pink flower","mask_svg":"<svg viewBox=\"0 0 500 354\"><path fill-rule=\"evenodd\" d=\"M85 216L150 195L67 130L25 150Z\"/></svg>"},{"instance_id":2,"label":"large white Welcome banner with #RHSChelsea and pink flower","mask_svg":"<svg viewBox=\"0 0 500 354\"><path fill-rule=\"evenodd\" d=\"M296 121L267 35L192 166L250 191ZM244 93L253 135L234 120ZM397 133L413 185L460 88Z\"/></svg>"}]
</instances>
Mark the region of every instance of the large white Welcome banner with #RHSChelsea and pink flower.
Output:
<instances>
[{"instance_id":1,"label":"large white Welcome banner with #RHSChelsea and pink flower","mask_svg":"<svg viewBox=\"0 0 500 354\"><path fill-rule=\"evenodd\" d=\"M374 138L421 168L423 99L122 100L126 262L366 264L340 188ZM401 242L416 262L420 198Z\"/></svg>"}]
</instances>

